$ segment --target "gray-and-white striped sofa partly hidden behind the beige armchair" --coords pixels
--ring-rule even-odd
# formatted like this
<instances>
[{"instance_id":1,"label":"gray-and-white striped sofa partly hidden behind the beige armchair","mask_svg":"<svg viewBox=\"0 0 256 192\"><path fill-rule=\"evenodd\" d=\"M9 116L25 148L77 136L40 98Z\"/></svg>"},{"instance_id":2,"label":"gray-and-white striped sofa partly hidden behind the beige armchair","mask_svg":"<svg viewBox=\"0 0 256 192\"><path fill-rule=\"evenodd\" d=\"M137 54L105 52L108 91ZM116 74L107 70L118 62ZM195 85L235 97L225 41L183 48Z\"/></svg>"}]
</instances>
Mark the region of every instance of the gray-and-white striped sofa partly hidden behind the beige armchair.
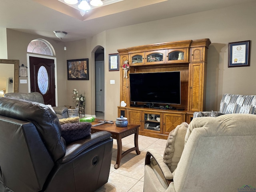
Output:
<instances>
[{"instance_id":1,"label":"gray-and-white striped sofa partly hidden behind the beige armchair","mask_svg":"<svg viewBox=\"0 0 256 192\"><path fill-rule=\"evenodd\" d=\"M256 95L224 94L219 112L194 112L193 118L233 113L256 114Z\"/></svg>"}]
</instances>

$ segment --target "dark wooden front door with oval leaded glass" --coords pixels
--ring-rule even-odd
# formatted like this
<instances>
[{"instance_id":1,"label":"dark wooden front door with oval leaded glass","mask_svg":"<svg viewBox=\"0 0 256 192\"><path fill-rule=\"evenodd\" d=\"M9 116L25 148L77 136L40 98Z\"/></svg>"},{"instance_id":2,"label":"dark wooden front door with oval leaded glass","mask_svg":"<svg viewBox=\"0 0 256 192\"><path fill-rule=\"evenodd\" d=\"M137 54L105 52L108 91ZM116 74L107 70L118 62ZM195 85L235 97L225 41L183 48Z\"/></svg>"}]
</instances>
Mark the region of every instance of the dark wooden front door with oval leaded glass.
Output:
<instances>
[{"instance_id":1,"label":"dark wooden front door with oval leaded glass","mask_svg":"<svg viewBox=\"0 0 256 192\"><path fill-rule=\"evenodd\" d=\"M54 60L30 56L29 66L30 91L41 93L44 104L56 106Z\"/></svg>"}]
</instances>

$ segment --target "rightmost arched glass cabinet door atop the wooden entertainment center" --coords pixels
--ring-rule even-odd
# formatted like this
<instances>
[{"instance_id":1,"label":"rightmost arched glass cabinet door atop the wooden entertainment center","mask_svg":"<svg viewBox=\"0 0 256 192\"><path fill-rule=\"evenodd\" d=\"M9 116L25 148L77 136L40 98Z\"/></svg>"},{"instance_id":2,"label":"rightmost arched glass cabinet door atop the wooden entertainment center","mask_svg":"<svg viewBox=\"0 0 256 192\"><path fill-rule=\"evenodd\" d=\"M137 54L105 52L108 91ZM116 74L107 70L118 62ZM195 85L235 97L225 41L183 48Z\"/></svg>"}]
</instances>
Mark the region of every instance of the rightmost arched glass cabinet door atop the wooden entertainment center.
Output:
<instances>
[{"instance_id":1,"label":"rightmost arched glass cabinet door atop the wooden entertainment center","mask_svg":"<svg viewBox=\"0 0 256 192\"><path fill-rule=\"evenodd\" d=\"M168 63L188 62L187 48L184 49L169 49L167 50Z\"/></svg>"}]
</instances>

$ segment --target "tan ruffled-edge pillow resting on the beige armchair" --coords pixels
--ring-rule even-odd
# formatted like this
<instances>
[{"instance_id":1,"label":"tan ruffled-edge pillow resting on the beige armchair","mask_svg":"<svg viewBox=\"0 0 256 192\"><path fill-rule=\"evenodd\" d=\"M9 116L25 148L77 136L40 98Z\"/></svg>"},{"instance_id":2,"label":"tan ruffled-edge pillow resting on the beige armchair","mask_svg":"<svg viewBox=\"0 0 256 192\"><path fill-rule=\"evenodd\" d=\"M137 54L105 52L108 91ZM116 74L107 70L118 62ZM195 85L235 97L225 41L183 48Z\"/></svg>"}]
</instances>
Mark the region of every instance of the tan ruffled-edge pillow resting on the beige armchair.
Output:
<instances>
[{"instance_id":1,"label":"tan ruffled-edge pillow resting on the beige armchair","mask_svg":"<svg viewBox=\"0 0 256 192\"><path fill-rule=\"evenodd\" d=\"M180 157L184 149L187 129L188 124L183 122L169 133L164 150L163 161L170 168L171 172L176 169L178 162L180 161Z\"/></svg>"}]
</instances>

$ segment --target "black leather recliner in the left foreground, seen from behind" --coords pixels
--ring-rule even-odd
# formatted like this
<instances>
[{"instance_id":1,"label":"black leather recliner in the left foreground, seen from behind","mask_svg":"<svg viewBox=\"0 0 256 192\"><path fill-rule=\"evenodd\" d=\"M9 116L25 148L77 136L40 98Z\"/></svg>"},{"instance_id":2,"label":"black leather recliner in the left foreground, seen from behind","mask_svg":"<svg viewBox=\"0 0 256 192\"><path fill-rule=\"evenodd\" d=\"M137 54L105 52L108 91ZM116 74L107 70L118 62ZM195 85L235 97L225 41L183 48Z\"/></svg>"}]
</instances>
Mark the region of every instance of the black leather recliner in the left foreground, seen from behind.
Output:
<instances>
[{"instance_id":1,"label":"black leather recliner in the left foreground, seen from behind","mask_svg":"<svg viewBox=\"0 0 256 192\"><path fill-rule=\"evenodd\" d=\"M0 98L0 192L93 192L108 182L112 144L102 131L66 145L46 105Z\"/></svg>"}]
</instances>

